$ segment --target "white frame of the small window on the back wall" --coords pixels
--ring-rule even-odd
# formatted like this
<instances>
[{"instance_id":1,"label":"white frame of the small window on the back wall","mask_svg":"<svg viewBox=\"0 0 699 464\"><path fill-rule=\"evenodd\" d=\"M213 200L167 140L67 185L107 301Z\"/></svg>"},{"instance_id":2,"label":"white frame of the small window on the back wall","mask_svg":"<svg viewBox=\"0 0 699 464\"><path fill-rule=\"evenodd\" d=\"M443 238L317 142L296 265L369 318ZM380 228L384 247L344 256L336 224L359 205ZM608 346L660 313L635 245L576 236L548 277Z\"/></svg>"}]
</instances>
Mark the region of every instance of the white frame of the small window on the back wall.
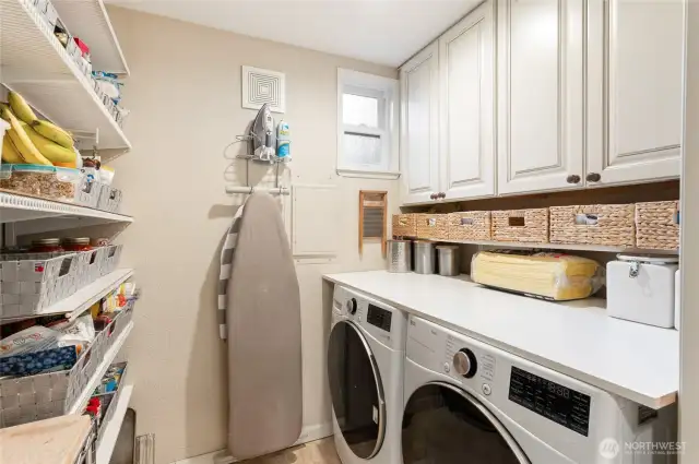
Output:
<instances>
[{"instance_id":1,"label":"white frame of the small window on the back wall","mask_svg":"<svg viewBox=\"0 0 699 464\"><path fill-rule=\"evenodd\" d=\"M344 94L359 95L379 100L379 127L344 123ZM337 68L337 175L398 179L399 170L399 81ZM344 159L344 135L352 132L381 138L381 166L347 163Z\"/></svg>"}]
</instances>

